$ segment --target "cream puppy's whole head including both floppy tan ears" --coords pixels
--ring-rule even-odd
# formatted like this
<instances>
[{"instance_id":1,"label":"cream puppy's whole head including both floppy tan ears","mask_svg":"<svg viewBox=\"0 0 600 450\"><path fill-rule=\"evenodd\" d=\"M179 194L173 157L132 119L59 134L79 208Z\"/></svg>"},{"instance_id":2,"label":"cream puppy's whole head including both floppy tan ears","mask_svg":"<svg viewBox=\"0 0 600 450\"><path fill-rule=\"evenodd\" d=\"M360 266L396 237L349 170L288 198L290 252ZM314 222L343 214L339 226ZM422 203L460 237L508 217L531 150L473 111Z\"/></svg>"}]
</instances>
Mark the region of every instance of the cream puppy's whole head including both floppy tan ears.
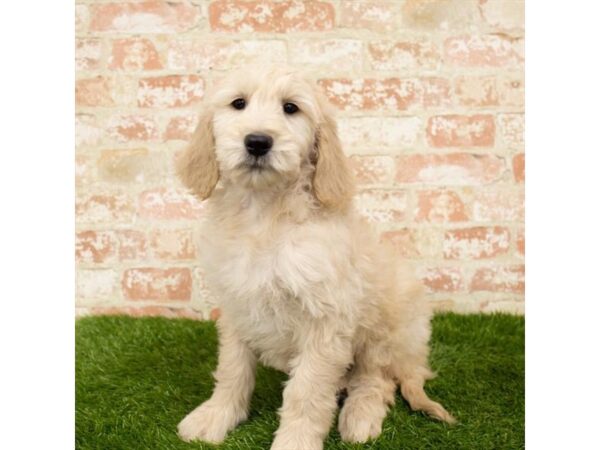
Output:
<instances>
[{"instance_id":1,"label":"cream puppy's whole head including both floppy tan ears","mask_svg":"<svg viewBox=\"0 0 600 450\"><path fill-rule=\"evenodd\" d=\"M178 173L206 199L219 179L273 189L297 181L307 167L323 206L349 203L352 177L323 94L293 69L253 68L227 77L206 99Z\"/></svg>"}]
</instances>

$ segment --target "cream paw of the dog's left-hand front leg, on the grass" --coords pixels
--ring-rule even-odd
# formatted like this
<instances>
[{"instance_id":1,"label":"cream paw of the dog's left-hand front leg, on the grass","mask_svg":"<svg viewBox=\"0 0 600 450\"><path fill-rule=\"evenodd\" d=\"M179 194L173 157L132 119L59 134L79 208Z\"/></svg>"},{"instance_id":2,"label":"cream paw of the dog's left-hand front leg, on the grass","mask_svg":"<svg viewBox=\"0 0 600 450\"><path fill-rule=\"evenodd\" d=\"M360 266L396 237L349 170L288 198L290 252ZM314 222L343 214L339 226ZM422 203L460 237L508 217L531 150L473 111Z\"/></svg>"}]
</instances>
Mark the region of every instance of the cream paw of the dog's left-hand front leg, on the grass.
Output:
<instances>
[{"instance_id":1,"label":"cream paw of the dog's left-hand front leg, on the grass","mask_svg":"<svg viewBox=\"0 0 600 450\"><path fill-rule=\"evenodd\" d=\"M214 405L208 401L179 422L177 432L186 442L205 441L218 444L223 442L227 432L243 419L244 417L235 414L231 408Z\"/></svg>"}]
</instances>

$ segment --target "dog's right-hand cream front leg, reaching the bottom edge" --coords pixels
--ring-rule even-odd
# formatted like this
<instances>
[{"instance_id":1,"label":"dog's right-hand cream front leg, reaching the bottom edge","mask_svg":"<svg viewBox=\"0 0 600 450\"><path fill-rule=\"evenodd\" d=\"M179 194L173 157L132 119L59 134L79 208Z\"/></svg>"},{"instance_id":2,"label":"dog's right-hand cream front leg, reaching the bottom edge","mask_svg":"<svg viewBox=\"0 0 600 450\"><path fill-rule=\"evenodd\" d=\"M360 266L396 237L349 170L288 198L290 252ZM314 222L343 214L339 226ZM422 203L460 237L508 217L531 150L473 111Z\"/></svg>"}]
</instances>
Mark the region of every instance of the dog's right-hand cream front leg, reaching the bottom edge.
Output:
<instances>
[{"instance_id":1,"label":"dog's right-hand cream front leg, reaching the bottom edge","mask_svg":"<svg viewBox=\"0 0 600 450\"><path fill-rule=\"evenodd\" d=\"M323 328L307 334L283 391L271 450L320 450L337 406L336 390L351 362L350 342Z\"/></svg>"}]
</instances>

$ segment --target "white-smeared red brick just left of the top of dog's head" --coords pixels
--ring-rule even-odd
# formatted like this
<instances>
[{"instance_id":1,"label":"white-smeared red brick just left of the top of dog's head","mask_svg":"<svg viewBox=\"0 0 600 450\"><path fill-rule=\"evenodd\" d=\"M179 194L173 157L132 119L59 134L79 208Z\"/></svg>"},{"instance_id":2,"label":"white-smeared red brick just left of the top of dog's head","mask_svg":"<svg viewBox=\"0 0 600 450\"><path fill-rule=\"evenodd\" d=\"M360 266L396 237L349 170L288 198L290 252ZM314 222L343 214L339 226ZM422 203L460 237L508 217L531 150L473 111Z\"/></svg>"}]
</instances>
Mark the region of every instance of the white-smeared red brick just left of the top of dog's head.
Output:
<instances>
[{"instance_id":1,"label":"white-smeared red brick just left of the top of dog's head","mask_svg":"<svg viewBox=\"0 0 600 450\"><path fill-rule=\"evenodd\" d=\"M167 75L139 80L140 108L177 108L198 104L204 96L204 80L197 75Z\"/></svg>"}]
</instances>

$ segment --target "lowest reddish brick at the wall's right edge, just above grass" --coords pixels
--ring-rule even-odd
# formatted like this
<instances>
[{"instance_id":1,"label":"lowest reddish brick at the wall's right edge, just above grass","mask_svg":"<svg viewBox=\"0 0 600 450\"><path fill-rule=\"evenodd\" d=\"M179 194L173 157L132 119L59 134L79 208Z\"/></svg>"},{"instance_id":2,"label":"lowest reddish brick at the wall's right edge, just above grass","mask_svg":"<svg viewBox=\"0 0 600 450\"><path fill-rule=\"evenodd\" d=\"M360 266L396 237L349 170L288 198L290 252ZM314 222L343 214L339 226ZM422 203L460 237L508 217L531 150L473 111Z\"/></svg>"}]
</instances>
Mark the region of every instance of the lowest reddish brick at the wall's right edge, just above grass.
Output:
<instances>
[{"instance_id":1,"label":"lowest reddish brick at the wall's right edge, just above grass","mask_svg":"<svg viewBox=\"0 0 600 450\"><path fill-rule=\"evenodd\" d=\"M482 267L475 272L471 281L471 292L525 292L525 266Z\"/></svg>"}]
</instances>

